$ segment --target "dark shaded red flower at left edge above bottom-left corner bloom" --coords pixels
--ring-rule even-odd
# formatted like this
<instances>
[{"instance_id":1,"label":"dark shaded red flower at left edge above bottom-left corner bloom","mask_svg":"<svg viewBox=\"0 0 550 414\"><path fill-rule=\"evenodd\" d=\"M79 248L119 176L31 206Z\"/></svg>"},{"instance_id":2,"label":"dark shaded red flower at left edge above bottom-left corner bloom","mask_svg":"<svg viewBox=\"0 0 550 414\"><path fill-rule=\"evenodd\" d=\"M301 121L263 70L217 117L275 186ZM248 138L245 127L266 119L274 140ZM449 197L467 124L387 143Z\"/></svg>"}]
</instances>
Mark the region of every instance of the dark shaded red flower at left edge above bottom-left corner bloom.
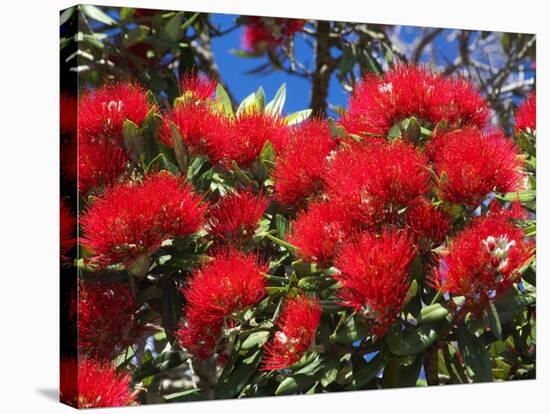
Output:
<instances>
[{"instance_id":1,"label":"dark shaded red flower at left edge above bottom-left corner bloom","mask_svg":"<svg viewBox=\"0 0 550 414\"><path fill-rule=\"evenodd\" d=\"M149 331L126 284L81 284L78 292L79 351L110 360Z\"/></svg>"}]
</instances>

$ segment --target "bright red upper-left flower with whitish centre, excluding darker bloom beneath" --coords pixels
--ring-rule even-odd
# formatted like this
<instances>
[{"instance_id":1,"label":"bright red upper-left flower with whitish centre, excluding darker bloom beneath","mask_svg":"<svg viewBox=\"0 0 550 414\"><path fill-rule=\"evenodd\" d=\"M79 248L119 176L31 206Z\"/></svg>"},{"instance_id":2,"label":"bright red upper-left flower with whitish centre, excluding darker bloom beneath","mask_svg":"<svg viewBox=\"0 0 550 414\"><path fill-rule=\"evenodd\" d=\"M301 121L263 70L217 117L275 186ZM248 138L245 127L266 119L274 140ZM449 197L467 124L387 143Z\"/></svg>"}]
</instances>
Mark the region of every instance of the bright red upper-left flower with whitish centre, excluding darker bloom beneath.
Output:
<instances>
[{"instance_id":1,"label":"bright red upper-left flower with whitish centre, excluding darker bloom beneath","mask_svg":"<svg viewBox=\"0 0 550 414\"><path fill-rule=\"evenodd\" d=\"M132 82L89 90L78 103L79 137L121 140L124 121L129 119L139 126L150 109L147 91Z\"/></svg>"}]
</instances>

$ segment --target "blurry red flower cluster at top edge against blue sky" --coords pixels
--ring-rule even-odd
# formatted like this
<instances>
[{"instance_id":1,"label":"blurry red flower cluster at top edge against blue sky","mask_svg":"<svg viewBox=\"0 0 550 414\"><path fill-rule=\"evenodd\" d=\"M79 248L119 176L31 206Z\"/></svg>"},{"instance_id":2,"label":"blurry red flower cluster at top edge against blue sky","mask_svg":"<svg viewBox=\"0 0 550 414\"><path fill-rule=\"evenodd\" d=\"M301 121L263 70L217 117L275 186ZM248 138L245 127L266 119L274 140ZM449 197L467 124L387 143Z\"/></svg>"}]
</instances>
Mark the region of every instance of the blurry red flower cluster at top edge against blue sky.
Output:
<instances>
[{"instance_id":1,"label":"blurry red flower cluster at top edge against blue sky","mask_svg":"<svg viewBox=\"0 0 550 414\"><path fill-rule=\"evenodd\" d=\"M288 43L304 28L305 20L270 17L248 17L242 35L242 47L250 53L262 54Z\"/></svg>"}]
</instances>

